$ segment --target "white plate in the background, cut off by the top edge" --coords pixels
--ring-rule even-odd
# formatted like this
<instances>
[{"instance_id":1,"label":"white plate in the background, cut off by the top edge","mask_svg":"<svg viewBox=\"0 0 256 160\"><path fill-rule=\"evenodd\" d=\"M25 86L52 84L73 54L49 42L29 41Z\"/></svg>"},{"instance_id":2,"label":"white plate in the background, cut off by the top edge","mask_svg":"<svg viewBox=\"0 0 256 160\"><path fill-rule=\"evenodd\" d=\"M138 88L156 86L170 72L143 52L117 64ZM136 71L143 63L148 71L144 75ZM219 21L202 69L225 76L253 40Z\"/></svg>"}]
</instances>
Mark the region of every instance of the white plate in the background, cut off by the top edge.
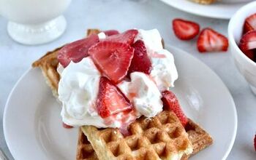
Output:
<instances>
[{"instance_id":1,"label":"white plate in the background, cut off by the top edge","mask_svg":"<svg viewBox=\"0 0 256 160\"><path fill-rule=\"evenodd\" d=\"M197 4L189 0L161 0L172 7L203 17L230 19L246 2L228 3L218 1L211 5Z\"/></svg>"}]
</instances>

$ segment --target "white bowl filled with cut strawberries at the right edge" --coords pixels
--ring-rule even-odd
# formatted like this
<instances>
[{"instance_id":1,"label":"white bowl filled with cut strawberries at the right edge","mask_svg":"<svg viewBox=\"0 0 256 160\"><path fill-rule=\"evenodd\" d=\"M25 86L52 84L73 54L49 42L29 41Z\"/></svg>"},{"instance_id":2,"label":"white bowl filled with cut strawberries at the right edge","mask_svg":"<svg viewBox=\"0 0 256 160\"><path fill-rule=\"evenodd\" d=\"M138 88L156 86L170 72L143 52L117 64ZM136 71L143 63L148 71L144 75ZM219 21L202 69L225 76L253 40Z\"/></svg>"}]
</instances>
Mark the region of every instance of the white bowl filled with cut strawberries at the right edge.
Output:
<instances>
[{"instance_id":1,"label":"white bowl filled with cut strawberries at the right edge","mask_svg":"<svg viewBox=\"0 0 256 160\"><path fill-rule=\"evenodd\" d=\"M230 50L238 71L248 81L252 92L256 94L256 1L238 9L228 25Z\"/></svg>"}]
</instances>

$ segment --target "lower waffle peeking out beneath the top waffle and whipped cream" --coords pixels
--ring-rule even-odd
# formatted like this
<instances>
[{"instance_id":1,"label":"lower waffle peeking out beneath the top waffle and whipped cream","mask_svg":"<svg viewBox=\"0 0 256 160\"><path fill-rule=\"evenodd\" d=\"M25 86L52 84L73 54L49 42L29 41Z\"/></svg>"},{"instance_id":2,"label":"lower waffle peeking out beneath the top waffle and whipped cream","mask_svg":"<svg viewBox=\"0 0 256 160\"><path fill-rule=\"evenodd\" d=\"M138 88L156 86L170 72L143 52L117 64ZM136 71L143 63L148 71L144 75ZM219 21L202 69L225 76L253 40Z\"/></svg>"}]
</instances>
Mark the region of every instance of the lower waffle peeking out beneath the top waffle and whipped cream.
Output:
<instances>
[{"instance_id":1,"label":"lower waffle peeking out beneath the top waffle and whipped cream","mask_svg":"<svg viewBox=\"0 0 256 160\"><path fill-rule=\"evenodd\" d=\"M88 30L88 35L91 33L99 33L97 29ZM61 47L60 47L61 48ZM48 52L46 55L41 57L39 60L32 64L33 67L39 67L42 70L42 74L45 76L47 84L52 89L53 95L58 97L58 84L59 84L59 73L57 72L58 60L57 53L59 49L55 49L52 52ZM77 160L87 160L87 159L98 159L97 154L94 149L87 140L86 135L81 132L81 128L79 128L79 137L78 137L78 148L77 148ZM200 126L195 124L191 119L189 119L189 123L186 127L186 132L189 135L189 140L193 146L193 153L188 156L183 156L182 159L188 159L189 156L203 150L203 148L208 147L213 143L211 136L208 135L206 131L204 131Z\"/></svg>"}]
</instances>

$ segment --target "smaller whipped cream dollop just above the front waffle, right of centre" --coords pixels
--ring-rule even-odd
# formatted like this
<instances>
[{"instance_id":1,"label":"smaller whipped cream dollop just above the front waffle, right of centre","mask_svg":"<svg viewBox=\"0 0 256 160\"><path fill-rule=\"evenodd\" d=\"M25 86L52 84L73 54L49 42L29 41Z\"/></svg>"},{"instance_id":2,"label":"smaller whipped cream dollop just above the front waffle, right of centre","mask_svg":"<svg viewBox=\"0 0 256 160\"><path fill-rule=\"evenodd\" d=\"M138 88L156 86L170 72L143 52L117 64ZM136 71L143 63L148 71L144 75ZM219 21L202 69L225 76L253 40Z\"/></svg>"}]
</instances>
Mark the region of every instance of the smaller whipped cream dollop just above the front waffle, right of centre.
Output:
<instances>
[{"instance_id":1,"label":"smaller whipped cream dollop just above the front waffle, right of centre","mask_svg":"<svg viewBox=\"0 0 256 160\"><path fill-rule=\"evenodd\" d=\"M130 77L131 81L118 84L119 89L131 101L139 113L138 116L156 116L162 111L162 95L156 84L145 73L133 72Z\"/></svg>"}]
</instances>

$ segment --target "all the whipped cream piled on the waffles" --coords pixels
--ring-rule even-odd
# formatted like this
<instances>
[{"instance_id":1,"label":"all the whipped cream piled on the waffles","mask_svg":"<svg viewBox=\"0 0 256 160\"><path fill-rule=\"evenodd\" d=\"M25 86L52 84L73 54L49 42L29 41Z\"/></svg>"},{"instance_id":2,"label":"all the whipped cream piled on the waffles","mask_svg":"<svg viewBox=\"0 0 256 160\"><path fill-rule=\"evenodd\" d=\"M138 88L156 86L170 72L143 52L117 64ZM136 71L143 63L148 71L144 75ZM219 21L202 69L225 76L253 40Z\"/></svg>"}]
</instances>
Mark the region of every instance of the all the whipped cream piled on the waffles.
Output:
<instances>
[{"instance_id":1,"label":"all the whipped cream piled on the waffles","mask_svg":"<svg viewBox=\"0 0 256 160\"><path fill-rule=\"evenodd\" d=\"M98 34L105 39L105 33ZM69 63L66 68L60 64L57 69L59 81L59 100L62 103L61 117L71 126L93 125L95 127L121 127L124 121L133 121L141 115L148 118L162 111L161 92L178 79L173 55L162 47L162 38L157 29L138 30L135 41L142 40L151 60L150 75L141 72L130 74L130 81L121 81L117 87L130 100L136 113L132 116L122 113L108 119L102 119L97 113L96 100L101 73L91 57L85 57L79 63ZM127 118L124 119L124 117ZM128 123L128 122L127 122Z\"/></svg>"}]
</instances>

